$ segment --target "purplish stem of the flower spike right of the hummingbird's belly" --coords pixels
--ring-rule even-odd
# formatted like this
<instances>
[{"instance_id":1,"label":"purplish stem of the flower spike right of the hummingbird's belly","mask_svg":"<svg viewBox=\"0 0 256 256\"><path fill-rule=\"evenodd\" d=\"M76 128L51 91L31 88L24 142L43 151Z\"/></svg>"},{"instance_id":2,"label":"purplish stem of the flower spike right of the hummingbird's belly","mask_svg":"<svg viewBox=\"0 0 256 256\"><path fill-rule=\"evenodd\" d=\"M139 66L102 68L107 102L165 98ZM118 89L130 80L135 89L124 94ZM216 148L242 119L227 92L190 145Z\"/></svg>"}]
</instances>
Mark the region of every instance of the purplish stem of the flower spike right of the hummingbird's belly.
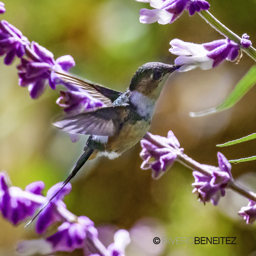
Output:
<instances>
[{"instance_id":1,"label":"purplish stem of the flower spike right of the hummingbird's belly","mask_svg":"<svg viewBox=\"0 0 256 256\"><path fill-rule=\"evenodd\" d=\"M195 160L193 160L192 158L190 158L189 156L184 154L180 148L174 148L174 147L170 146L167 143L164 143L162 141L157 140L155 137L153 137L151 135L152 134L147 132L146 135L143 138L145 140L148 140L149 142L151 142L152 144L156 145L159 148L171 149L173 151L173 153L175 153L177 155L176 161L178 161L180 164L186 166L190 170L198 171L198 172L201 172L201 173L204 173L204 174L208 174L208 175L210 174L211 175L211 173L209 173L209 171L205 167L206 165L196 162ZM256 197L253 196L252 192L250 192L247 189L241 187L240 185L238 185L234 181L230 181L228 183L227 188L230 188L233 191L235 191L236 193L240 194L241 196L244 196L244 197L246 197L248 199L251 199L252 201L256 202Z\"/></svg>"}]
</instances>

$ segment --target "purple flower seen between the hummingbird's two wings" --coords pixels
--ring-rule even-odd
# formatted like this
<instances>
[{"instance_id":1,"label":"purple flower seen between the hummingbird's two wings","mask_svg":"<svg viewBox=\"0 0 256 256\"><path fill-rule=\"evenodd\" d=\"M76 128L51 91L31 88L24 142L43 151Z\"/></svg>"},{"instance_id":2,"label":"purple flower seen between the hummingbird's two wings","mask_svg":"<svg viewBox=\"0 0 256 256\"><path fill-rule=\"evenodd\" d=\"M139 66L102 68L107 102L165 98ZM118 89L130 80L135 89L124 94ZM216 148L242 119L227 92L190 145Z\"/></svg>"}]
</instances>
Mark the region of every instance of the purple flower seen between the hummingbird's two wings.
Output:
<instances>
[{"instance_id":1,"label":"purple flower seen between the hummingbird's two wings","mask_svg":"<svg viewBox=\"0 0 256 256\"><path fill-rule=\"evenodd\" d=\"M85 109L105 106L102 101L93 98L88 92L82 89L79 89L79 91L60 91L60 95L56 103L61 107L65 107L65 112L76 110L78 113L81 113Z\"/></svg>"}]
</instances>

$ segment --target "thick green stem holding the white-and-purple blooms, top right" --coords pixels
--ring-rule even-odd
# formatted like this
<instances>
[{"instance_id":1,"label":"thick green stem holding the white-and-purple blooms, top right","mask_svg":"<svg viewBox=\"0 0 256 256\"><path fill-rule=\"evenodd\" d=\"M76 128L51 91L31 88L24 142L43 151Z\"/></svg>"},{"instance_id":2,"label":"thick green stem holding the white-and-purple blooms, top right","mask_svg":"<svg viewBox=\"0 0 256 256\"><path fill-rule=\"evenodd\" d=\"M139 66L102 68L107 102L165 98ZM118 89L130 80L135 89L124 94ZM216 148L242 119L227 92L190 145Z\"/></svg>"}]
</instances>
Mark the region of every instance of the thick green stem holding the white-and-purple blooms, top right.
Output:
<instances>
[{"instance_id":1,"label":"thick green stem holding the white-and-purple blooms, top right","mask_svg":"<svg viewBox=\"0 0 256 256\"><path fill-rule=\"evenodd\" d=\"M215 28L218 32L220 32L221 35L228 37L232 41L236 42L237 44L241 45L241 39L239 36L237 36L234 32L232 32L230 29L225 27L219 20L217 20L210 12L208 11L201 11L198 12L199 15L206 20L207 23L209 23L213 28ZM245 53L247 53L253 60L256 61L256 49L254 49L252 46L248 48L241 47L241 50Z\"/></svg>"}]
</instances>

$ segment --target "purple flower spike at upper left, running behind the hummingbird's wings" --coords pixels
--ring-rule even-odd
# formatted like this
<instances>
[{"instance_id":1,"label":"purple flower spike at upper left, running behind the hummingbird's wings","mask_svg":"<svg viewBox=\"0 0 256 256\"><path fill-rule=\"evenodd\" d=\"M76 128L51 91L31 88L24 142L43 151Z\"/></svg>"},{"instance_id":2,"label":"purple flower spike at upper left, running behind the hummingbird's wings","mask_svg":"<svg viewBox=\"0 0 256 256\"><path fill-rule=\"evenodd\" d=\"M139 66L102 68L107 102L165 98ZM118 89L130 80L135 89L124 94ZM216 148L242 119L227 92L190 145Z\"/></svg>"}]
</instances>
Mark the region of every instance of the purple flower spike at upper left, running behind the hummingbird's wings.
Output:
<instances>
[{"instance_id":1,"label":"purple flower spike at upper left, running behind the hummingbird's wings","mask_svg":"<svg viewBox=\"0 0 256 256\"><path fill-rule=\"evenodd\" d=\"M4 4L0 2L0 13L4 13ZM21 32L7 21L0 21L0 56L6 55L4 63L9 65L15 56L21 58L19 70L19 84L28 86L30 97L37 99L44 92L47 84L55 90L57 84L63 84L68 92L60 92L61 97L57 104L65 107L64 111L105 106L100 100L93 98L89 93L73 84L62 81L61 75L54 71L65 72L75 66L75 61L70 55L61 56L54 60L52 52L39 44L28 41Z\"/></svg>"}]
</instances>

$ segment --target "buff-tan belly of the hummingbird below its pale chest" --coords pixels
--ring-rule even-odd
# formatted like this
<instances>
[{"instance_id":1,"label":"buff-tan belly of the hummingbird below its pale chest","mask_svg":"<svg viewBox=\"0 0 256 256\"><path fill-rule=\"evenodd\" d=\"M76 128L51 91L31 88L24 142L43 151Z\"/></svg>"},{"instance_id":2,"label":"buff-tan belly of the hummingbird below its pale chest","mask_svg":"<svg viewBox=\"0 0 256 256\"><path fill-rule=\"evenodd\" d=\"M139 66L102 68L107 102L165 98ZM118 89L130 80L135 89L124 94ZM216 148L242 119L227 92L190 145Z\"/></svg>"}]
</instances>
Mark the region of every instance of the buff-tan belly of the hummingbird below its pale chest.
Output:
<instances>
[{"instance_id":1,"label":"buff-tan belly of the hummingbird below its pale chest","mask_svg":"<svg viewBox=\"0 0 256 256\"><path fill-rule=\"evenodd\" d=\"M116 136L108 138L106 143L107 152L115 152L120 155L128 148L134 146L148 132L151 121L141 120L135 124L126 124Z\"/></svg>"}]
</instances>

